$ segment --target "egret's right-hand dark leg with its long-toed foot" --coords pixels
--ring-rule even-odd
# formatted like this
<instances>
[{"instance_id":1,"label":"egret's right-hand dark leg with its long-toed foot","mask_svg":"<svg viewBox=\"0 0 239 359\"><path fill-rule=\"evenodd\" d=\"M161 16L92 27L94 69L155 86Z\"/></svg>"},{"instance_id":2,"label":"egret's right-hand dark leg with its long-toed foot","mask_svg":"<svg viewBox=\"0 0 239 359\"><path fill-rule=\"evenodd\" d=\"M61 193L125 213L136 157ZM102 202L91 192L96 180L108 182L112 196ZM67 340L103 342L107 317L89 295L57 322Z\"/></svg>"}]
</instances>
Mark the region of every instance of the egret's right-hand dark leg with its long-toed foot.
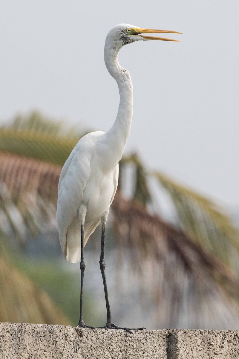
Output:
<instances>
[{"instance_id":1,"label":"egret's right-hand dark leg with its long-toed foot","mask_svg":"<svg viewBox=\"0 0 239 359\"><path fill-rule=\"evenodd\" d=\"M129 333L132 333L129 328L121 328L118 325L115 325L111 318L110 312L110 303L109 303L109 296L106 284L106 277L105 277L105 220L101 220L101 250L100 250L100 271L102 274L103 284L104 284L104 291L105 291L105 303L106 303L106 311L107 311L107 323L104 327L101 328L108 328L108 329L123 329ZM145 329L145 328L137 328L137 329Z\"/></svg>"}]
</instances>

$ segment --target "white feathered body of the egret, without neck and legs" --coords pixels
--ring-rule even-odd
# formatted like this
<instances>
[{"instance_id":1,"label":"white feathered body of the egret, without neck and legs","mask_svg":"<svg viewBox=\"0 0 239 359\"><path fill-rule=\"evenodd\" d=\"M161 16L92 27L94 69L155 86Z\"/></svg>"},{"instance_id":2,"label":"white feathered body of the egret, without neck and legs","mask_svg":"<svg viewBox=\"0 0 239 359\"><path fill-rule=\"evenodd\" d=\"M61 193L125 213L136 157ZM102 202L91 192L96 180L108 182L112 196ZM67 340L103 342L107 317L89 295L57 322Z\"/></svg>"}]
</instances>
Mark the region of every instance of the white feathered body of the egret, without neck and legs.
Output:
<instances>
[{"instance_id":1,"label":"white feathered body of the egret, without neck and legs","mask_svg":"<svg viewBox=\"0 0 239 359\"><path fill-rule=\"evenodd\" d=\"M118 186L119 165L109 168L101 143L104 132L85 135L76 144L64 164L59 179L57 223L62 251L72 263L81 258L81 223L79 210L86 208L84 246L108 213Z\"/></svg>"}]
</instances>

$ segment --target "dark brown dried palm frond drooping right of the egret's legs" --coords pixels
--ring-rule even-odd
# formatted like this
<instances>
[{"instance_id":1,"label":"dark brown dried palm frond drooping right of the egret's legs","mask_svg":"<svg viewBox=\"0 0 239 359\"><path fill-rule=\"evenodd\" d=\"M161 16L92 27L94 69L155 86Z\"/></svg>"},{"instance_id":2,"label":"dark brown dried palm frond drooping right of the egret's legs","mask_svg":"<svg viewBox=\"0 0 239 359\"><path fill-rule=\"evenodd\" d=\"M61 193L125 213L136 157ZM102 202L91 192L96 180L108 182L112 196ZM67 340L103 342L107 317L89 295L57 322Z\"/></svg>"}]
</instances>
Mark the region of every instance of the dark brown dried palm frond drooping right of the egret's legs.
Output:
<instances>
[{"instance_id":1,"label":"dark brown dried palm frond drooping right of the egret's legs","mask_svg":"<svg viewBox=\"0 0 239 359\"><path fill-rule=\"evenodd\" d=\"M225 307L231 316L239 310L238 278L211 252L159 216L147 213L140 202L125 200L119 192L111 208L119 253L130 258L143 288L152 294L154 305L160 308L156 318L161 324L165 321L176 327L185 306L193 305L193 316L188 320L191 327L193 318L201 318L202 309L218 313ZM212 318L216 320L216 314ZM228 318L229 314L224 325L229 325ZM207 319L201 318L202 327Z\"/></svg>"}]
</instances>

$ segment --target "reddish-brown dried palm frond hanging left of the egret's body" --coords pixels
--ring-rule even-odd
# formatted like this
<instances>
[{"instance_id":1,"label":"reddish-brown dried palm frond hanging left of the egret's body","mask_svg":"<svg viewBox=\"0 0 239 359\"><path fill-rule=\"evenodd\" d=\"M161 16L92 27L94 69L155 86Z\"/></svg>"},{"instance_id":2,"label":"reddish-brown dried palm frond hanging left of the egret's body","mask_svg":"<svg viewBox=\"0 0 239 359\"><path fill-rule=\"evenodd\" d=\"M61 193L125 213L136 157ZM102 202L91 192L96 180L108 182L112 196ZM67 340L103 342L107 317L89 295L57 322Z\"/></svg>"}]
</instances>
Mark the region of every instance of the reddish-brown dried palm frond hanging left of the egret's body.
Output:
<instances>
[{"instance_id":1,"label":"reddish-brown dried palm frond hanging left of the egret's body","mask_svg":"<svg viewBox=\"0 0 239 359\"><path fill-rule=\"evenodd\" d=\"M20 244L32 234L56 228L56 202L61 166L0 153L1 228Z\"/></svg>"}]
</instances>

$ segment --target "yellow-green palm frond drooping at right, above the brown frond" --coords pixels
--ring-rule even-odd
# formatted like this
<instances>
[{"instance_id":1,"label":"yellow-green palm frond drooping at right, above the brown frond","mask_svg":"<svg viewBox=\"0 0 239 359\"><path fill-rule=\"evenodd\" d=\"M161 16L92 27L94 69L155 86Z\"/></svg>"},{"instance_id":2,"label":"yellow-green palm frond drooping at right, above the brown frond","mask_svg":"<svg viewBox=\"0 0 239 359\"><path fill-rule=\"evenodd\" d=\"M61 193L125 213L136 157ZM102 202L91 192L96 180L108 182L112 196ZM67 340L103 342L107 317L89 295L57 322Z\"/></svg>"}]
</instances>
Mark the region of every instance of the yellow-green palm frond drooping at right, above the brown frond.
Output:
<instances>
[{"instance_id":1,"label":"yellow-green palm frond drooping at right, above the brown frond","mask_svg":"<svg viewBox=\"0 0 239 359\"><path fill-rule=\"evenodd\" d=\"M233 265L233 251L239 253L239 230L215 202L160 172L153 175L170 195L181 228L195 243Z\"/></svg>"}]
</instances>

